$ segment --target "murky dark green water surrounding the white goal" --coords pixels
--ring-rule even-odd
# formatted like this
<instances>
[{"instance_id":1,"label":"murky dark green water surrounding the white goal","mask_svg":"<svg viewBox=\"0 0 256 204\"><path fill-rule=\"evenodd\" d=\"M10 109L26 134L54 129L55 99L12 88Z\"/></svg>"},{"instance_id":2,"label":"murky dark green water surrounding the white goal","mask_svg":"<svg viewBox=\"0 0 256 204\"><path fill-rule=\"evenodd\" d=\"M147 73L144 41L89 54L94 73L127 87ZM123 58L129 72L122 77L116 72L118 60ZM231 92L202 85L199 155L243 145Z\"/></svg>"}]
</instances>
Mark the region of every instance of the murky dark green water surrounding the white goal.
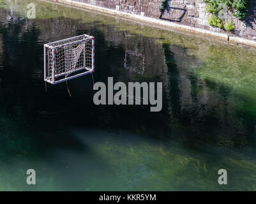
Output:
<instances>
[{"instance_id":1,"label":"murky dark green water surrounding the white goal","mask_svg":"<svg viewBox=\"0 0 256 204\"><path fill-rule=\"evenodd\" d=\"M1 191L255 191L255 49L41 1L0 3ZM65 84L45 92L43 44L84 33L96 39L94 80L163 82L162 112L95 106L91 76L68 82L72 97ZM124 69L135 49L143 74Z\"/></svg>"}]
</instances>

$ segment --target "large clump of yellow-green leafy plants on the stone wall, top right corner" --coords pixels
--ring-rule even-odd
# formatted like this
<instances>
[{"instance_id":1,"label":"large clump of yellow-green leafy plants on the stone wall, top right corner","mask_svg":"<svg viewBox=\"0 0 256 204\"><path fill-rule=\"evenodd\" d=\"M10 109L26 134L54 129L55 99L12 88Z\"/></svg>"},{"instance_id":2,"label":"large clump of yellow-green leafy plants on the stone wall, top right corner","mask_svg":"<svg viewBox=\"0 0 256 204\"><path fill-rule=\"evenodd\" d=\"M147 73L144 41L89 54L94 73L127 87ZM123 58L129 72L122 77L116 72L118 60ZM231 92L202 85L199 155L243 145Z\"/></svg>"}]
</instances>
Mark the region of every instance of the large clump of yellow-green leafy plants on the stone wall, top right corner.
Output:
<instances>
[{"instance_id":1,"label":"large clump of yellow-green leafy plants on the stone wall, top right corner","mask_svg":"<svg viewBox=\"0 0 256 204\"><path fill-rule=\"evenodd\" d=\"M223 10L232 12L234 17L237 17L239 20L244 20L246 16L248 0L204 0L206 3L206 11L211 13L212 16L209 17L209 25L222 28L224 22ZM225 22L224 29L226 31L232 31L235 29L234 24L229 20Z\"/></svg>"}]
</instances>

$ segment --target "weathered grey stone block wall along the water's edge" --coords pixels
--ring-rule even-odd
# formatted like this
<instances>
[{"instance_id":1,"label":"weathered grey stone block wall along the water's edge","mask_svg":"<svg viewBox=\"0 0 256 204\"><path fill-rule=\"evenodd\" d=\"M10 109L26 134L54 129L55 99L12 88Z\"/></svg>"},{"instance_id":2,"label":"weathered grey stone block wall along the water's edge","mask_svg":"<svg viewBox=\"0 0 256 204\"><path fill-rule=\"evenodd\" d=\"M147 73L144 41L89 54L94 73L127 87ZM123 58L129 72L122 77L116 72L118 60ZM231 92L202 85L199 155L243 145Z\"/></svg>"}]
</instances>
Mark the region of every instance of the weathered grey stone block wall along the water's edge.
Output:
<instances>
[{"instance_id":1,"label":"weathered grey stone block wall along the water's edge","mask_svg":"<svg viewBox=\"0 0 256 204\"><path fill-rule=\"evenodd\" d=\"M218 27L208 25L207 13L203 0L169 0L167 8L163 13L159 11L161 0L73 0L82 3L93 4L113 10L125 11L162 19L176 24L190 25L207 31L216 33L226 33ZM248 12L244 21L238 20L232 16L229 11L225 14L223 20L232 20L236 25L235 31L229 33L229 36L239 36L248 40L256 41L256 1L249 0Z\"/></svg>"}]
</instances>

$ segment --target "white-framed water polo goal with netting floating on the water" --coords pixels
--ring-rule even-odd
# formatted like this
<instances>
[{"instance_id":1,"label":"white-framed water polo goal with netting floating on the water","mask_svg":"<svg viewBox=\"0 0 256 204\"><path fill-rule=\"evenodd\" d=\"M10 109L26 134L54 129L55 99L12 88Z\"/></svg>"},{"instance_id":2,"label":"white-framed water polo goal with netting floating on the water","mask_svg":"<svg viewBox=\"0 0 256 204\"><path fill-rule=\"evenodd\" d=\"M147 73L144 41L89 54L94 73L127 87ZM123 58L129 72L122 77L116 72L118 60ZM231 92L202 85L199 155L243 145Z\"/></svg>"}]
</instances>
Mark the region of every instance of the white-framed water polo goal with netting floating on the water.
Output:
<instances>
[{"instance_id":1,"label":"white-framed water polo goal with netting floating on the water","mask_svg":"<svg viewBox=\"0 0 256 204\"><path fill-rule=\"evenodd\" d=\"M58 84L94 71L94 37L83 34L44 45L44 79Z\"/></svg>"}]
</instances>

